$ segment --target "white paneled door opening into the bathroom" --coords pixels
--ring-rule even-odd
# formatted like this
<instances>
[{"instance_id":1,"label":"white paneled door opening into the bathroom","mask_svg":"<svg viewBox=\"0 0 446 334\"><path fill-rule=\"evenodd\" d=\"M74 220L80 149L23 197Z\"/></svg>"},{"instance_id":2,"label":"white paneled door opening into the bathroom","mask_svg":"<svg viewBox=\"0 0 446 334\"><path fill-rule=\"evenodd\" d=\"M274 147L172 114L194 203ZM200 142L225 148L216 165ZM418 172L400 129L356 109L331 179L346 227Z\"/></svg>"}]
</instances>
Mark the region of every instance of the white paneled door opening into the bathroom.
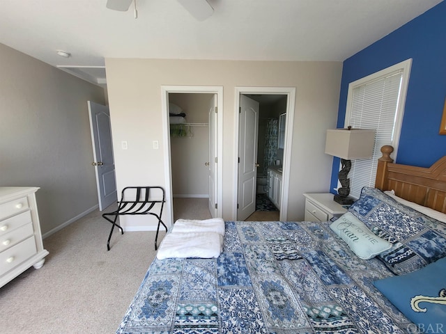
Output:
<instances>
[{"instance_id":1,"label":"white paneled door opening into the bathroom","mask_svg":"<svg viewBox=\"0 0 446 334\"><path fill-rule=\"evenodd\" d=\"M259 102L240 95L237 219L244 221L256 211L257 136Z\"/></svg>"}]
</instances>

